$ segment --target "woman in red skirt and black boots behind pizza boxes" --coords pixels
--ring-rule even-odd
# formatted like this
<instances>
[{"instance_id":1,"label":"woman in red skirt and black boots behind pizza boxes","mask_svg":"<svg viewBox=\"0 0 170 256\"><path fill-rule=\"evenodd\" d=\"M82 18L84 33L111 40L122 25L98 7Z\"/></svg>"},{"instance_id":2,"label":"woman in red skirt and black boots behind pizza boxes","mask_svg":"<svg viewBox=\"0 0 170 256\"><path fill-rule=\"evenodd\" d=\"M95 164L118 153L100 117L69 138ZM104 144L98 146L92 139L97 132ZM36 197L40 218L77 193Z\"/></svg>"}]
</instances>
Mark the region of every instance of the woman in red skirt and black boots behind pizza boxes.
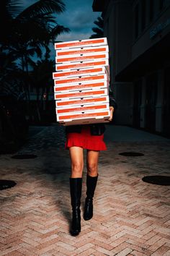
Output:
<instances>
[{"instance_id":1,"label":"woman in red skirt and black boots behind pizza boxes","mask_svg":"<svg viewBox=\"0 0 170 256\"><path fill-rule=\"evenodd\" d=\"M110 117L116 103L109 97ZM84 168L84 154L86 149L86 200L84 205L84 220L93 216L93 197L97 186L99 151L106 150L104 138L104 124L73 125L66 127L66 149L69 149L71 158L70 193L72 206L71 235L76 236L81 231L81 188Z\"/></svg>"}]
</instances>

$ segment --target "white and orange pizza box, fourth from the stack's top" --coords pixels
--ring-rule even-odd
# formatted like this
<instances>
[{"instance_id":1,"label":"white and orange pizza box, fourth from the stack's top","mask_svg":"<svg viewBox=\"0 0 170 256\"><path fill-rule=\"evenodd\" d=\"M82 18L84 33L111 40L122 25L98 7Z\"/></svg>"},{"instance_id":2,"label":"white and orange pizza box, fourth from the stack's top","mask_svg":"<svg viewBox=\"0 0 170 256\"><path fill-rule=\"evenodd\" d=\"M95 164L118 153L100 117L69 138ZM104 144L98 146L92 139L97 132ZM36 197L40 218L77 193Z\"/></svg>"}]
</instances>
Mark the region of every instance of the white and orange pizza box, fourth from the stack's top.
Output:
<instances>
[{"instance_id":1,"label":"white and orange pizza box, fourth from the stack's top","mask_svg":"<svg viewBox=\"0 0 170 256\"><path fill-rule=\"evenodd\" d=\"M83 69L89 67L106 67L109 70L108 59L97 59L95 61L76 61L65 64L55 64L56 71L72 71L76 69Z\"/></svg>"}]
</instances>

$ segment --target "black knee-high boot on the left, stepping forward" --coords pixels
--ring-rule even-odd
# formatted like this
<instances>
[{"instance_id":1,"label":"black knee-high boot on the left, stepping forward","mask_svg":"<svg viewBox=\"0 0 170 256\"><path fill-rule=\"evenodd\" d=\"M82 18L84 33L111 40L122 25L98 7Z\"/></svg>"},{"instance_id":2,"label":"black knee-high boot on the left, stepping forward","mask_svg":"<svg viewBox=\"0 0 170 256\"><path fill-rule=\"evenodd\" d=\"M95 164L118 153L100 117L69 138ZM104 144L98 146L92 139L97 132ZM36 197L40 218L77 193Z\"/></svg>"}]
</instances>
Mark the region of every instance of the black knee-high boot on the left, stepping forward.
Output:
<instances>
[{"instance_id":1,"label":"black knee-high boot on the left, stepping forward","mask_svg":"<svg viewBox=\"0 0 170 256\"><path fill-rule=\"evenodd\" d=\"M73 210L70 230L72 236L77 236L81 231L81 189L82 178L70 178L71 206Z\"/></svg>"}]
</instances>

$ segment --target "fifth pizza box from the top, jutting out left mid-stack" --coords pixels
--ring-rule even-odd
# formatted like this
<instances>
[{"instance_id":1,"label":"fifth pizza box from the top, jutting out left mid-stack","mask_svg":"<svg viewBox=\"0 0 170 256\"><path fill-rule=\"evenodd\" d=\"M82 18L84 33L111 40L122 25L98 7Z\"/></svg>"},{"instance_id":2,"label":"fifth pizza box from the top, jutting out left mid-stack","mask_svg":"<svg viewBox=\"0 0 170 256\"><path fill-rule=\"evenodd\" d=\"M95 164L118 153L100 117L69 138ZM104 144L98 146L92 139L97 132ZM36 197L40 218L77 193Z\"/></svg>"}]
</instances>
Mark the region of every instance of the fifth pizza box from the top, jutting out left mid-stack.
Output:
<instances>
[{"instance_id":1,"label":"fifth pizza box from the top, jutting out left mid-stack","mask_svg":"<svg viewBox=\"0 0 170 256\"><path fill-rule=\"evenodd\" d=\"M53 79L63 79L63 77L76 77L81 75L89 74L107 74L107 69L105 67L89 67L85 69L75 69L71 71L61 71L53 72Z\"/></svg>"}]
</instances>

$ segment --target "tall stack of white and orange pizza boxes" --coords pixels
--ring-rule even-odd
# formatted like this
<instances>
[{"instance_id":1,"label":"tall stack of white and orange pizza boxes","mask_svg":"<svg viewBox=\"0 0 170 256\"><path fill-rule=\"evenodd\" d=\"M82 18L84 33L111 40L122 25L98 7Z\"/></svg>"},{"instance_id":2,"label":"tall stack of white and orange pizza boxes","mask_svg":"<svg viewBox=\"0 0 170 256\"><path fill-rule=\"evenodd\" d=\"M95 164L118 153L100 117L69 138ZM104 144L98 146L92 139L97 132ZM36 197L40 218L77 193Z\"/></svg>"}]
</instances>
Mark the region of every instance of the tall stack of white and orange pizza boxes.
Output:
<instances>
[{"instance_id":1,"label":"tall stack of white and orange pizza boxes","mask_svg":"<svg viewBox=\"0 0 170 256\"><path fill-rule=\"evenodd\" d=\"M109 119L107 38L55 43L53 72L57 121L63 125Z\"/></svg>"}]
</instances>

